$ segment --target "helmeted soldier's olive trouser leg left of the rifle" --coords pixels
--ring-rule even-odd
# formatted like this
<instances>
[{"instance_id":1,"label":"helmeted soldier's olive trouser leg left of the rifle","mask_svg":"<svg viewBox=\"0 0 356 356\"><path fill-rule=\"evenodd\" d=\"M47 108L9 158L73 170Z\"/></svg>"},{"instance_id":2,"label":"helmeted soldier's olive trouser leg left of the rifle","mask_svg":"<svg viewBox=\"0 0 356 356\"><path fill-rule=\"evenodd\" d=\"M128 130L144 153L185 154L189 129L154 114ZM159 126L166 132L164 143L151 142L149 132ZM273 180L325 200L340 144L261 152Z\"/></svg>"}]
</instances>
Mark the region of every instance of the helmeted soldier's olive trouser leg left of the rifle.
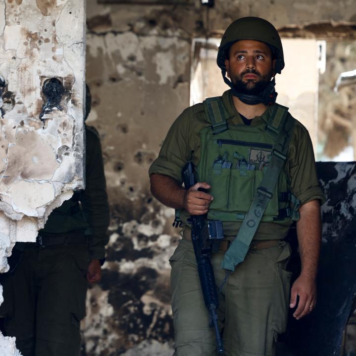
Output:
<instances>
[{"instance_id":1,"label":"helmeted soldier's olive trouser leg left of the rifle","mask_svg":"<svg viewBox=\"0 0 356 356\"><path fill-rule=\"evenodd\" d=\"M215 356L215 333L209 327L191 241L181 240L170 262L176 346L174 355Z\"/></svg>"}]
</instances>

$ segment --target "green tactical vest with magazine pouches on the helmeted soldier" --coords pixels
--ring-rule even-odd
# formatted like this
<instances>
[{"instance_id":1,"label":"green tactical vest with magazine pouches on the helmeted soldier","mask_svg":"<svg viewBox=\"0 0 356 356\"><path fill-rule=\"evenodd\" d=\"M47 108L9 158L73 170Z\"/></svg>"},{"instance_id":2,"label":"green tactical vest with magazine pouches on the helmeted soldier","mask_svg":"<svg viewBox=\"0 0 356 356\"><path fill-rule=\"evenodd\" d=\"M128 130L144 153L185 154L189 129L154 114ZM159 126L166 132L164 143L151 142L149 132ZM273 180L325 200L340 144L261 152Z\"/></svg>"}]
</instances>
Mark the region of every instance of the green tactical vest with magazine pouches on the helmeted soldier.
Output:
<instances>
[{"instance_id":1,"label":"green tactical vest with magazine pouches on the helmeted soldier","mask_svg":"<svg viewBox=\"0 0 356 356\"><path fill-rule=\"evenodd\" d=\"M265 127L231 125L226 123L230 115L221 97L207 98L203 105L212 125L200 132L202 153L195 175L196 181L211 185L209 194L214 200L208 219L242 222L263 178L268 180L272 152L288 151L295 119L288 108L274 104ZM276 180L261 221L285 225L299 220L300 201L290 192L283 169ZM182 221L186 221L185 213Z\"/></svg>"}]
</instances>

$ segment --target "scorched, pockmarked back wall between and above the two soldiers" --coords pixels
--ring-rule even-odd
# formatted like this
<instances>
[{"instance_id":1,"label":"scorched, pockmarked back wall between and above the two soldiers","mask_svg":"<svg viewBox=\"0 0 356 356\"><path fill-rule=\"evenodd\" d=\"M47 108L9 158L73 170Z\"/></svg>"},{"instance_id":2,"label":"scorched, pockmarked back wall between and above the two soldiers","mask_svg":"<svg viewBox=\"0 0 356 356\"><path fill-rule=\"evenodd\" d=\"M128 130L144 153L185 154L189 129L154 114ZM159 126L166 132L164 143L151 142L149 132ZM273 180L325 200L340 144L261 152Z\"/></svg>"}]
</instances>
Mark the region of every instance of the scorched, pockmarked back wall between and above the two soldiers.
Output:
<instances>
[{"instance_id":1,"label":"scorched, pockmarked back wall between and above the two soldiers","mask_svg":"<svg viewBox=\"0 0 356 356\"><path fill-rule=\"evenodd\" d=\"M147 171L189 105L192 38L219 37L248 15L267 18L286 37L356 37L352 26L346 34L338 27L355 24L354 0L215 2L210 21L198 0L194 6L87 2L88 122L102 139L112 223L103 280L88 292L83 355L172 355L168 258L179 237L173 210L149 192Z\"/></svg>"}]
</instances>

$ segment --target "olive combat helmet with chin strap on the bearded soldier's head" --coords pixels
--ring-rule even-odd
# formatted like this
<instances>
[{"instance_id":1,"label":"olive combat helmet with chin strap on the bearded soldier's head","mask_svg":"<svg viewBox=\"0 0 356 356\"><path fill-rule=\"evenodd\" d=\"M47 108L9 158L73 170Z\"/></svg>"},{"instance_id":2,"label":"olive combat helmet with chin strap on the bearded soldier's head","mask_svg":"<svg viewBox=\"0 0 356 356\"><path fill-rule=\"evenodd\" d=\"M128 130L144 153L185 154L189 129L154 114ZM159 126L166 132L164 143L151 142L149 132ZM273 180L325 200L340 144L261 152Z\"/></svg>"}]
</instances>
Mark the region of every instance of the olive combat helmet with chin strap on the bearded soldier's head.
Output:
<instances>
[{"instance_id":1,"label":"olive combat helmet with chin strap on the bearded soldier's head","mask_svg":"<svg viewBox=\"0 0 356 356\"><path fill-rule=\"evenodd\" d=\"M223 80L232 89L233 95L250 105L262 102L265 104L274 102L277 97L277 93L274 90L274 78L268 84L267 88L258 95L248 95L238 92L234 89L228 78L226 78L225 59L228 55L228 49L239 40L261 41L268 45L272 51L273 59L276 60L275 72L281 73L284 68L284 56L282 42L277 30L270 22L260 17L239 18L232 22L224 32L217 57L217 64L222 70Z\"/></svg>"}]
</instances>

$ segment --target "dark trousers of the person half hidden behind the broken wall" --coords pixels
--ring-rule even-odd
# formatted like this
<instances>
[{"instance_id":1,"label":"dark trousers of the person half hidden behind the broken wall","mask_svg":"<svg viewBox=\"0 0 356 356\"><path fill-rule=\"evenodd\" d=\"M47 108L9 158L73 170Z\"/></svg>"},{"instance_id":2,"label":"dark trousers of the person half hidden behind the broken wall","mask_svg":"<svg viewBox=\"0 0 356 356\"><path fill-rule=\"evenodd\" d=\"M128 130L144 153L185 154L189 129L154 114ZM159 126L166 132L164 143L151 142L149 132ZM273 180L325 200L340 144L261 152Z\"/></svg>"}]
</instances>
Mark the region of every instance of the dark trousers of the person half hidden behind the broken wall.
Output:
<instances>
[{"instance_id":1,"label":"dark trousers of the person half hidden behind the broken wall","mask_svg":"<svg viewBox=\"0 0 356 356\"><path fill-rule=\"evenodd\" d=\"M23 356L79 356L88 248L29 245L15 271L1 276L6 335Z\"/></svg>"}]
</instances>

